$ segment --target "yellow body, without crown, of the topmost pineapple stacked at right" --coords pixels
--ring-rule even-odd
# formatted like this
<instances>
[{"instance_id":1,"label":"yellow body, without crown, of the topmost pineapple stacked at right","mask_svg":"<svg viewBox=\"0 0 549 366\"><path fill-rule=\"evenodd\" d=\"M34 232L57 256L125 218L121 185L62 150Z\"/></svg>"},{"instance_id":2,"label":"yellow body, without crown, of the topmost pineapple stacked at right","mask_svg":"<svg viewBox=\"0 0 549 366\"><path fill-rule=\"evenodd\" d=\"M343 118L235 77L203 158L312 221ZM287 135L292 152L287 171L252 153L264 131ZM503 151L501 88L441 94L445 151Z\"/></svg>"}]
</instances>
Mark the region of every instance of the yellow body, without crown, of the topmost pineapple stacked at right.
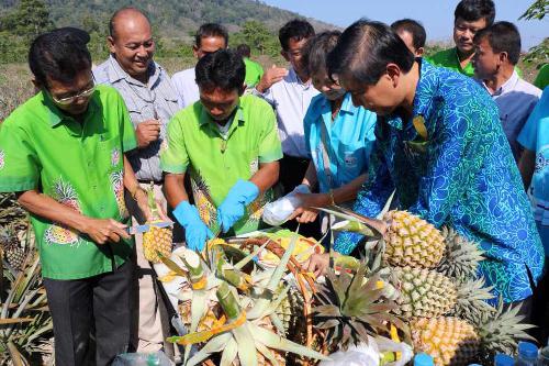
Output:
<instances>
[{"instance_id":1,"label":"yellow body, without crown, of the topmost pineapple stacked at right","mask_svg":"<svg viewBox=\"0 0 549 366\"><path fill-rule=\"evenodd\" d=\"M391 266L436 267L445 253L445 239L433 224L406 211L383 215L383 260Z\"/></svg>"}]
</instances>

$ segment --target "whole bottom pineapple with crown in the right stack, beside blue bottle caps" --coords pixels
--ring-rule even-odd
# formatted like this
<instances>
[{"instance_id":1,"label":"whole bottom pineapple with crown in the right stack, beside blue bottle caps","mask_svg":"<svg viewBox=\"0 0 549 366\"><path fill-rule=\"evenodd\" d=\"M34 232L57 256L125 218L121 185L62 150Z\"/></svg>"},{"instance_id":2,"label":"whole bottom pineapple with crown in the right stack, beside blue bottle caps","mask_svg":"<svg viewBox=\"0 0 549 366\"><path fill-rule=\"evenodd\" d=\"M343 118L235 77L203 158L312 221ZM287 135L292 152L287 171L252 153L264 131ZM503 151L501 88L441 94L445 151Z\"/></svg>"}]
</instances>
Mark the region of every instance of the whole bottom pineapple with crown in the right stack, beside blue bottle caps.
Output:
<instances>
[{"instance_id":1,"label":"whole bottom pineapple with crown in the right stack, beside blue bottle caps","mask_svg":"<svg viewBox=\"0 0 549 366\"><path fill-rule=\"evenodd\" d=\"M520 323L518 307L504 311L503 302L495 311L486 312L471 323L458 318L418 318L410 323L416 352L426 352L437 366L468 365L479 361L488 365L495 353L514 354L517 340L531 339ZM480 359L479 359L480 358Z\"/></svg>"}]
</instances>

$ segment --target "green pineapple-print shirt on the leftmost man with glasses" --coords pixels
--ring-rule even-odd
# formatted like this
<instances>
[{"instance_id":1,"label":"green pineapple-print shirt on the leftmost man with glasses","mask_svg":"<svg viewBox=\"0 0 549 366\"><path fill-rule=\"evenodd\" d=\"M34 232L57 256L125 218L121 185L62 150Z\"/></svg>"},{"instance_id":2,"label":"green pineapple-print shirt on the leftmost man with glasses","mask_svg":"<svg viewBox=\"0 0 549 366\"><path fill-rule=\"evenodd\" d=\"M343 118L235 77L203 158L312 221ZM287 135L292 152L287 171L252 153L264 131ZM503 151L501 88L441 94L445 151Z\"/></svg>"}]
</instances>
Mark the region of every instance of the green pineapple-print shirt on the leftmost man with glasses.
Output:
<instances>
[{"instance_id":1,"label":"green pineapple-print shirt on the leftmost man with glasses","mask_svg":"<svg viewBox=\"0 0 549 366\"><path fill-rule=\"evenodd\" d=\"M135 147L130 115L115 89L97 87L83 123L41 91L2 123L0 191L38 189L83 215L127 222L123 153ZM87 278L130 258L133 240L98 245L44 218L31 214L31 221L46 278Z\"/></svg>"}]
</instances>

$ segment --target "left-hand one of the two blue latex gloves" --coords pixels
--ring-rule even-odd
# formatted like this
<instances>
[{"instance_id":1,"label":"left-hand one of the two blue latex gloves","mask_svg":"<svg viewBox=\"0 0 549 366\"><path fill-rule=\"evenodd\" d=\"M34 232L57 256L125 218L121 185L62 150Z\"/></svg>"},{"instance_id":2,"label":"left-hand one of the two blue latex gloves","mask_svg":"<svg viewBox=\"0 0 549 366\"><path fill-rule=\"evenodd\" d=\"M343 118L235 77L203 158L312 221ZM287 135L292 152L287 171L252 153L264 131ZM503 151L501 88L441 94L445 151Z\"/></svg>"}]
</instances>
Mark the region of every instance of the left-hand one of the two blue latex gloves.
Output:
<instances>
[{"instance_id":1,"label":"left-hand one of the two blue latex gloves","mask_svg":"<svg viewBox=\"0 0 549 366\"><path fill-rule=\"evenodd\" d=\"M173 217L184 228L187 247L192 251L202 251L206 239L214 235L200 219L199 210L188 201L181 201L173 210Z\"/></svg>"}]
</instances>

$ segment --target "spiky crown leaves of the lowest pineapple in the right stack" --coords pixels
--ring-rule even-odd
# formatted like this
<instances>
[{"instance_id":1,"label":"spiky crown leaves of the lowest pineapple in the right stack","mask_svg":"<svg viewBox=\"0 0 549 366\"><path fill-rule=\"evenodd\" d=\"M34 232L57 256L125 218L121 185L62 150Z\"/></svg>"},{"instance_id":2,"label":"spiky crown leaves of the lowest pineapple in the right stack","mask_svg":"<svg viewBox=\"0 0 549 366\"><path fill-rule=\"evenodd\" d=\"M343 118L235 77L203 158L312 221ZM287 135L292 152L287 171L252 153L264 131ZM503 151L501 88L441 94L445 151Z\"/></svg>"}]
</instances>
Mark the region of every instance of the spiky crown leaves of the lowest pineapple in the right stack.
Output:
<instances>
[{"instance_id":1,"label":"spiky crown leaves of the lowest pineapple in the right stack","mask_svg":"<svg viewBox=\"0 0 549 366\"><path fill-rule=\"evenodd\" d=\"M535 325L523 323L525 317L519 314L520 306L505 306L502 297L495 312L480 317L473 325L482 339L482 347L489 353L504 352L513 354L518 340L533 340L526 333Z\"/></svg>"}]
</instances>

